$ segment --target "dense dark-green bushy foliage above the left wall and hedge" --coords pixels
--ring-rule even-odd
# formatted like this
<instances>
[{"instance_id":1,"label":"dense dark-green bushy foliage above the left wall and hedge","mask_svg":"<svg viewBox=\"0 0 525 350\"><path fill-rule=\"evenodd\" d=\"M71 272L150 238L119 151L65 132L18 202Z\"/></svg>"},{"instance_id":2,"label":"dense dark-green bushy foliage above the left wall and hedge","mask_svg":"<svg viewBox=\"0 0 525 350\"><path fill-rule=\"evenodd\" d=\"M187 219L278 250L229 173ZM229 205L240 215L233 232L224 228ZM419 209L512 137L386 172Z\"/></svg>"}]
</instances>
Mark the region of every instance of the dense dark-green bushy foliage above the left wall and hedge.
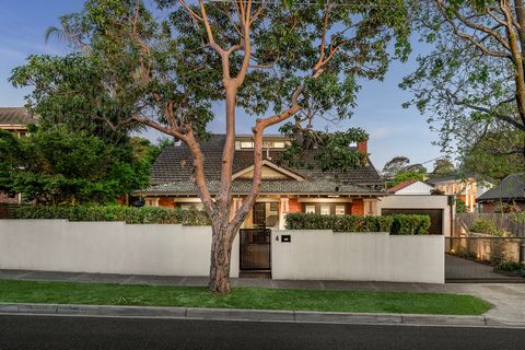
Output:
<instances>
[{"instance_id":1,"label":"dense dark-green bushy foliage above the left wall and hedge","mask_svg":"<svg viewBox=\"0 0 525 350\"><path fill-rule=\"evenodd\" d=\"M39 203L112 202L148 184L151 158L127 142L43 122L26 138L0 133L0 187Z\"/></svg>"}]
</instances>

